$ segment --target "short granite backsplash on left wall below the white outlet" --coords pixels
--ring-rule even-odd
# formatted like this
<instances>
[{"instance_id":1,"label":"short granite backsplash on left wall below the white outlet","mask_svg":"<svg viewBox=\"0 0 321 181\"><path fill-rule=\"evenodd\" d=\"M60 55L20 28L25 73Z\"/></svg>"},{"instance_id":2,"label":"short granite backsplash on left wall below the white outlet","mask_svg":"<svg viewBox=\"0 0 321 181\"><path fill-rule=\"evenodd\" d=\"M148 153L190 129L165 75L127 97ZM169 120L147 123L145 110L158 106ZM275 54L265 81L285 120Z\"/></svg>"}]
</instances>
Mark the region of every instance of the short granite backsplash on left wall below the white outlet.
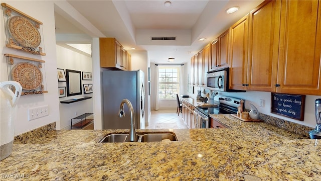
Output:
<instances>
[{"instance_id":1,"label":"short granite backsplash on left wall below the white outlet","mask_svg":"<svg viewBox=\"0 0 321 181\"><path fill-rule=\"evenodd\" d=\"M56 131L56 122L36 128L26 133L15 136L14 144L27 144L33 140L46 136L52 131Z\"/></svg>"}]
</instances>

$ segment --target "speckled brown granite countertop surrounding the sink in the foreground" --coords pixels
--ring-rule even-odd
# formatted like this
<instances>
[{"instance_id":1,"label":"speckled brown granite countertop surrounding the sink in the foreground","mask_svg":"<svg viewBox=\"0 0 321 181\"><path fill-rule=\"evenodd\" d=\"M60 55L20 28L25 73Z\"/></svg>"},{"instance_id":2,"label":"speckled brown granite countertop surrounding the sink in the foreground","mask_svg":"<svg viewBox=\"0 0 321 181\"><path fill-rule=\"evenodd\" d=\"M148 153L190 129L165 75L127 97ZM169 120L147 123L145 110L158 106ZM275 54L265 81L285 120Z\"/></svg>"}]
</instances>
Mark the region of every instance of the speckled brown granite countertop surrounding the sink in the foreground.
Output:
<instances>
[{"instance_id":1,"label":"speckled brown granite countertop surrounding the sink in the foreground","mask_svg":"<svg viewBox=\"0 0 321 181\"><path fill-rule=\"evenodd\" d=\"M229 128L137 130L174 132L174 142L98 143L115 130L54 131L14 144L0 174L4 180L321 180L321 143L263 122L211 117Z\"/></svg>"}]
</instances>

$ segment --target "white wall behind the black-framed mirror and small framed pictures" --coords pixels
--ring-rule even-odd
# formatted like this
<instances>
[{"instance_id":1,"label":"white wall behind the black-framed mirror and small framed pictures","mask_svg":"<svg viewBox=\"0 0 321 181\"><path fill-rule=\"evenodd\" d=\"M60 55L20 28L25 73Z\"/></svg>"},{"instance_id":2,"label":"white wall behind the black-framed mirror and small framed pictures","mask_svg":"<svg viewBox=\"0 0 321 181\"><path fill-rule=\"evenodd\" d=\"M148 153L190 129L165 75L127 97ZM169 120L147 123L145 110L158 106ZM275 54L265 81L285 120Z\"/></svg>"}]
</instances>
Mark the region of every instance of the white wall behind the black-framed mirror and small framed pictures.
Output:
<instances>
[{"instance_id":1,"label":"white wall behind the black-framed mirror and small framed pictures","mask_svg":"<svg viewBox=\"0 0 321 181\"><path fill-rule=\"evenodd\" d=\"M92 72L92 62L91 57L85 56L81 53L72 51L65 47L56 46L57 49L57 66L58 68ZM83 84L92 84L92 80L81 80L81 89L82 95L69 96L59 98L59 101L65 101L68 99L73 99L77 97L92 97L92 93L85 94L83 89ZM65 86L66 82L58 82L58 86ZM82 115L84 113L93 113L93 99L88 99L71 104L61 104L59 103L60 109L60 127L61 129L70 129L71 128L71 119Z\"/></svg>"}]
</instances>

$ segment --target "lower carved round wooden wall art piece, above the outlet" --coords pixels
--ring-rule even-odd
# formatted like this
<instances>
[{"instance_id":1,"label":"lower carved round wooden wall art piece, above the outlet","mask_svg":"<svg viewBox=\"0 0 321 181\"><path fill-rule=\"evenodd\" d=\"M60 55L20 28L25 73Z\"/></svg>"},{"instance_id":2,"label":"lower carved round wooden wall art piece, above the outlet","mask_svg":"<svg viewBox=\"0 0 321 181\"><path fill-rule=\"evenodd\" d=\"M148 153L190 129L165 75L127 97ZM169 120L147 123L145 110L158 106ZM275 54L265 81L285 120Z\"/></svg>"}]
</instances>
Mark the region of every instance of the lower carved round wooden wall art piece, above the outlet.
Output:
<instances>
[{"instance_id":1,"label":"lower carved round wooden wall art piece, above the outlet","mask_svg":"<svg viewBox=\"0 0 321 181\"><path fill-rule=\"evenodd\" d=\"M28 62L17 64L11 70L11 75L13 80L19 82L23 89L26 90L36 89L42 83L41 70Z\"/></svg>"}]
</instances>

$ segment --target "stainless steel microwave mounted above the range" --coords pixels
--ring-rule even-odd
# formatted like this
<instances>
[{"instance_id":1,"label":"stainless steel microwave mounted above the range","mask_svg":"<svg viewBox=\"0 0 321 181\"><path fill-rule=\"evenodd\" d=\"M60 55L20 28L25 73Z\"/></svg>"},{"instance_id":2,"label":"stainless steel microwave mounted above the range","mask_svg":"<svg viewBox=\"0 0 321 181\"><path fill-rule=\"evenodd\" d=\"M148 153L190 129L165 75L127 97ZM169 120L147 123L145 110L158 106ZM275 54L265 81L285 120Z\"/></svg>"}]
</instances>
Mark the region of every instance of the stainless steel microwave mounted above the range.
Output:
<instances>
[{"instance_id":1,"label":"stainless steel microwave mounted above the range","mask_svg":"<svg viewBox=\"0 0 321 181\"><path fill-rule=\"evenodd\" d=\"M222 92L245 92L229 89L229 68L221 68L207 72L207 88Z\"/></svg>"}]
</instances>

